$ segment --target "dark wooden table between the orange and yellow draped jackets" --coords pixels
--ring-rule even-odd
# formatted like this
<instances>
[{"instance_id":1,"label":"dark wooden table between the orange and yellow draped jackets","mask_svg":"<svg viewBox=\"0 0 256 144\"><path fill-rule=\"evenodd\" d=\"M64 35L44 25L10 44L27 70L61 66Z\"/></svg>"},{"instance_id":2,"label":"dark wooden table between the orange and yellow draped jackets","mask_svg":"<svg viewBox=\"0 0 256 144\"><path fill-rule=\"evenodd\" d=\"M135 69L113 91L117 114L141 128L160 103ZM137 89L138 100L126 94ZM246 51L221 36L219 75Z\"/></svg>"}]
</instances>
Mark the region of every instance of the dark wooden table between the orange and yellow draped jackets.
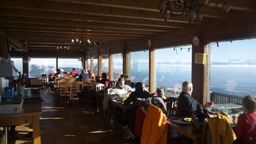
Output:
<instances>
[{"instance_id":1,"label":"dark wooden table between the orange and yellow draped jackets","mask_svg":"<svg viewBox=\"0 0 256 144\"><path fill-rule=\"evenodd\" d=\"M167 124L168 124L168 138L172 138L172 130L174 130L193 140L194 144L201 143L202 132L193 131L190 124L186 124L186 125L176 124L171 120L168 120ZM172 144L172 140L168 140L168 144Z\"/></svg>"}]
</instances>

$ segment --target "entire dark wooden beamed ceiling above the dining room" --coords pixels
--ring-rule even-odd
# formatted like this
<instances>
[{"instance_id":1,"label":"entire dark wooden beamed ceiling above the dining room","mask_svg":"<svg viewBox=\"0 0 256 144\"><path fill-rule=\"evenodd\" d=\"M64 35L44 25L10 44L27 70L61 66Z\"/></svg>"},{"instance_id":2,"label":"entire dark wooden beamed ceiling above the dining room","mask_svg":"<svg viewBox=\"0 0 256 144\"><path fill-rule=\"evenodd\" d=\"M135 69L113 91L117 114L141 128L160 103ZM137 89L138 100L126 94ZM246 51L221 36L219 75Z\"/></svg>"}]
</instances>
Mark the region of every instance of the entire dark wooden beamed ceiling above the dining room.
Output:
<instances>
[{"instance_id":1,"label":"entire dark wooden beamed ceiling above the dining room","mask_svg":"<svg viewBox=\"0 0 256 144\"><path fill-rule=\"evenodd\" d=\"M214 12L203 13L201 22L189 23L184 15L164 21L157 9L159 1L2 0L0 34L17 45L26 45L28 51L49 51L61 45L70 46L72 38L81 36L97 45L124 43L256 11L255 0L234 0L229 3L228 15L221 13L219 4ZM214 1L204 10L211 10Z\"/></svg>"}]
</instances>

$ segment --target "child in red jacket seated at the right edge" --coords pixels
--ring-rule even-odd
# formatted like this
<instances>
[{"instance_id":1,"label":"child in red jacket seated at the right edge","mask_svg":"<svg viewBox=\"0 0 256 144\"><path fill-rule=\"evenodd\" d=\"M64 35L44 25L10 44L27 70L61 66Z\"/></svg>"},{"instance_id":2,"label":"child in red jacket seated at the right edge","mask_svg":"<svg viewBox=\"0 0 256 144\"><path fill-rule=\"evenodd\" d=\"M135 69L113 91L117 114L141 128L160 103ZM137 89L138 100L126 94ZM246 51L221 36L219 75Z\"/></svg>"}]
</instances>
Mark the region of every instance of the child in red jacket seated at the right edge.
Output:
<instances>
[{"instance_id":1,"label":"child in red jacket seated at the right edge","mask_svg":"<svg viewBox=\"0 0 256 144\"><path fill-rule=\"evenodd\" d=\"M239 115L236 125L236 141L234 143L255 143L255 125L250 116L256 122L256 98L247 95L243 98L244 113ZM250 116L249 116L250 115Z\"/></svg>"}]
</instances>

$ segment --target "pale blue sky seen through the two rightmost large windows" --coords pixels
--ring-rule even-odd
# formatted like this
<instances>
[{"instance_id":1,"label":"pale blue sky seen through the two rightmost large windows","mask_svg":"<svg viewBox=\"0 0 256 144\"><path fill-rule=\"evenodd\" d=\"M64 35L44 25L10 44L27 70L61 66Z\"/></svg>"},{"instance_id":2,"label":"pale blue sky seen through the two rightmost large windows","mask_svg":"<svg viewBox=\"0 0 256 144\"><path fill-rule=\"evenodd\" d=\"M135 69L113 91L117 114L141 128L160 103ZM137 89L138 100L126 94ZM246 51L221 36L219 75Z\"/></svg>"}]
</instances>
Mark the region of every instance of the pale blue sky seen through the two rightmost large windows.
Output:
<instances>
[{"instance_id":1,"label":"pale blue sky seen through the two rightmost large windows","mask_svg":"<svg viewBox=\"0 0 256 144\"><path fill-rule=\"evenodd\" d=\"M236 40L219 42L217 47L216 42L211 44L211 61L228 61L231 59L239 60L256 60L256 38L248 40ZM175 51L172 48L156 50L156 61L191 61L191 45L176 47ZM141 58L141 56L137 56Z\"/></svg>"}]
</instances>

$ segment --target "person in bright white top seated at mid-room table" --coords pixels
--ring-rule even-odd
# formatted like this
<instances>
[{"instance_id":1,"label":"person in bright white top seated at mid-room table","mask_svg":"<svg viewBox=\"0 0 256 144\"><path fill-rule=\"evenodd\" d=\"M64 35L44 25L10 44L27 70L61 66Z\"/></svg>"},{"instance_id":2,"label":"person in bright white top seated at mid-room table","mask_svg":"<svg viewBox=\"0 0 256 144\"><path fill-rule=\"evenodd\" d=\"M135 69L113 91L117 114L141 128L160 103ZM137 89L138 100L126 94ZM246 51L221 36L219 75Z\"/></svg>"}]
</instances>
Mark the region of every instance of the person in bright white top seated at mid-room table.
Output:
<instances>
[{"instance_id":1,"label":"person in bright white top seated at mid-room table","mask_svg":"<svg viewBox=\"0 0 256 144\"><path fill-rule=\"evenodd\" d=\"M124 77L119 77L117 84L109 92L109 99L120 99L123 94L132 92L131 86L124 84Z\"/></svg>"}]
</instances>

